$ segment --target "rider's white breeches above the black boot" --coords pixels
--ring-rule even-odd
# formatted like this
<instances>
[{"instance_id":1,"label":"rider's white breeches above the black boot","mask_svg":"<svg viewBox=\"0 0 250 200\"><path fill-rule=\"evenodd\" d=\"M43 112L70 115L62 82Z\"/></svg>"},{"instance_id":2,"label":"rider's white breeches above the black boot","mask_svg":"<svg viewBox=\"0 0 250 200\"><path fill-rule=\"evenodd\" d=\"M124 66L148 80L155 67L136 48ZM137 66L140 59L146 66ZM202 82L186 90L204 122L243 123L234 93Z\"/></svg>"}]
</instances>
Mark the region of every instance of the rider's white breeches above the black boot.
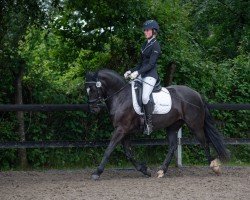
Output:
<instances>
[{"instance_id":1,"label":"rider's white breeches above the black boot","mask_svg":"<svg viewBox=\"0 0 250 200\"><path fill-rule=\"evenodd\" d=\"M142 78L141 75L138 76L139 80L142 80L142 103L147 104L149 101L149 96L154 89L154 85L156 84L156 79L150 76Z\"/></svg>"}]
</instances>

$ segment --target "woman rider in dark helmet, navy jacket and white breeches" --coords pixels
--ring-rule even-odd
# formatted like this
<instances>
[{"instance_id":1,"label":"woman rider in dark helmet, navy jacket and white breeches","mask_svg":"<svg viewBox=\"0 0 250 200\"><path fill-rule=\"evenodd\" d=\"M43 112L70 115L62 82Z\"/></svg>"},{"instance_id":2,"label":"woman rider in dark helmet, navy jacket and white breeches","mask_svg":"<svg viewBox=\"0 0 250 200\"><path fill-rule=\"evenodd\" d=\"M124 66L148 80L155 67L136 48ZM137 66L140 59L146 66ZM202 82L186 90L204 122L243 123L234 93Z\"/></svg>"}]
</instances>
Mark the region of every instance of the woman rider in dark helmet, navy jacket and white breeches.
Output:
<instances>
[{"instance_id":1,"label":"woman rider in dark helmet, navy jacket and white breeches","mask_svg":"<svg viewBox=\"0 0 250 200\"><path fill-rule=\"evenodd\" d=\"M124 77L137 78L143 82L142 102L146 118L144 132L150 134L153 128L152 112L154 105L149 100L149 96L159 78L156 70L156 62L161 53L160 45L156 40L159 25L155 20L147 20L143 24L143 30L147 41L142 45L140 62L135 68L126 71Z\"/></svg>"}]
</instances>

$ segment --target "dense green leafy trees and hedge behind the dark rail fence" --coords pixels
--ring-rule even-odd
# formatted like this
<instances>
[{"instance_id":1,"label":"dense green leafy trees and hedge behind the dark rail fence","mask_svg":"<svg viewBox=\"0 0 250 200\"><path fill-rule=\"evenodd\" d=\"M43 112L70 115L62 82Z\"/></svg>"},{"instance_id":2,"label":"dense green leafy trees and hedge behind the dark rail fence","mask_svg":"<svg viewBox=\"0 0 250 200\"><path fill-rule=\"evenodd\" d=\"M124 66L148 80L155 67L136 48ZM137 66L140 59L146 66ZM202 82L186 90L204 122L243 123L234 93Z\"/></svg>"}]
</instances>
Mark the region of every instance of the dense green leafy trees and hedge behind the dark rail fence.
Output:
<instances>
[{"instance_id":1,"label":"dense green leafy trees and hedge behind the dark rail fence","mask_svg":"<svg viewBox=\"0 0 250 200\"><path fill-rule=\"evenodd\" d=\"M120 0L1 1L0 103L14 103L14 82L25 63L23 101L26 104L84 103L87 71L109 68L121 75L138 60L147 19L160 25L162 56L158 72L166 80L171 63L173 84L199 91L209 103L249 103L250 10L244 0ZM18 140L15 113L0 113L0 141ZM213 111L224 123L225 137L249 138L249 111ZM25 113L28 141L109 139L107 113ZM186 128L185 136L192 137ZM160 131L150 137L163 138ZM142 138L145 136L138 135ZM233 147L232 162L250 162L249 146ZM166 147L135 148L138 158L161 163ZM28 149L31 168L97 165L103 148ZM146 156L145 156L146 155ZM111 165L129 165L121 147ZM185 164L205 164L199 147L184 148ZM0 150L0 169L19 167L16 150Z\"/></svg>"}]
</instances>

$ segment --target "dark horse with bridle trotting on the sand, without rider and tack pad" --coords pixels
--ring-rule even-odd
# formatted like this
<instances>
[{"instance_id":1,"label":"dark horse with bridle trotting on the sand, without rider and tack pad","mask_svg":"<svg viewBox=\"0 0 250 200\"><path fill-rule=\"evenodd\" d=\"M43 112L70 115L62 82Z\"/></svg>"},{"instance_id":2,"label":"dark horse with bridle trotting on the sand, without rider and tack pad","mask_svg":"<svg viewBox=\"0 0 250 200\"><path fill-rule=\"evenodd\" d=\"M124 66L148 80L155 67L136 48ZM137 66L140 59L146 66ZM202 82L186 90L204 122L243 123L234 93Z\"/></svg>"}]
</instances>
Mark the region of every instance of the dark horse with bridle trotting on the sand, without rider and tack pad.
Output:
<instances>
[{"instance_id":1,"label":"dark horse with bridle trotting on the sand, without rider and tack pad","mask_svg":"<svg viewBox=\"0 0 250 200\"><path fill-rule=\"evenodd\" d=\"M100 165L92 174L92 178L97 180L100 177L112 151L119 143L124 146L126 157L135 168L150 176L151 173L147 166L134 159L130 147L128 136L139 131L142 132L142 117L136 114L132 105L131 85L126 83L123 77L115 71L103 69L95 73L87 73L85 86L92 111L98 112L100 110L98 104L104 102L110 112L114 126L110 143ZM177 132L184 123L187 124L204 148L208 163L212 164L210 166L213 167L215 172L219 172L217 159L211 158L209 143L213 145L221 160L229 160L230 156L201 95L186 86L176 85L167 87L167 89L172 97L172 108L167 114L153 115L152 119L153 131L165 128L169 141L169 150L157 172L158 177L163 177L167 172L177 149Z\"/></svg>"}]
</instances>

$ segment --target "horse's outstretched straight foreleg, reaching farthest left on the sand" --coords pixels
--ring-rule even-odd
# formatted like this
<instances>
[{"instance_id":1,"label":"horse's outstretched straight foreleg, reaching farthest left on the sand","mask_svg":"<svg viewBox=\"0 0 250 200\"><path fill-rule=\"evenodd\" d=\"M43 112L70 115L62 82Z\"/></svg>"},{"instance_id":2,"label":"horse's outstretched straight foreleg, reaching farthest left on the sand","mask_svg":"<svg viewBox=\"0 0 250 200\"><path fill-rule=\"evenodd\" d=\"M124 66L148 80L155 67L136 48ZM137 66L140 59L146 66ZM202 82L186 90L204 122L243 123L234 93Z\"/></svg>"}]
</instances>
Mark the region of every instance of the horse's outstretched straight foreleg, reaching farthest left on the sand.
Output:
<instances>
[{"instance_id":1,"label":"horse's outstretched straight foreleg, reaching farthest left on the sand","mask_svg":"<svg viewBox=\"0 0 250 200\"><path fill-rule=\"evenodd\" d=\"M117 144L122 140L123 137L124 137L123 128L117 127L112 135L112 138L111 138L110 143L109 143L109 145L104 153L104 156L102 158L100 165L97 167L97 170L92 174L92 179L94 179L94 180L99 179L100 175L104 171L104 167L107 164L111 153L113 152L113 150L115 149Z\"/></svg>"}]
</instances>

